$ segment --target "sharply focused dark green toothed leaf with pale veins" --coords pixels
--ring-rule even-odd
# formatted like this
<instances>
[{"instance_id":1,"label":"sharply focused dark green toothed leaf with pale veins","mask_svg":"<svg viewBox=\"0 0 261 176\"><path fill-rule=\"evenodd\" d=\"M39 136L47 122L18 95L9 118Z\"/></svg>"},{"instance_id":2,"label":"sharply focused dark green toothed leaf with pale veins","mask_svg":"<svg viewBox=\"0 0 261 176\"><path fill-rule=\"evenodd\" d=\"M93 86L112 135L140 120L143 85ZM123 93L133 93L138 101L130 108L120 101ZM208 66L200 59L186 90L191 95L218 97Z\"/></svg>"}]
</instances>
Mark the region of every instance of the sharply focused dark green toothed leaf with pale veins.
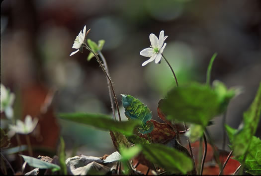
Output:
<instances>
[{"instance_id":1,"label":"sharply focused dark green toothed leaf with pale veins","mask_svg":"<svg viewBox=\"0 0 261 176\"><path fill-rule=\"evenodd\" d=\"M147 123L147 121L152 118L152 113L149 108L130 95L121 94L121 96L123 107L125 109L125 116L129 119L140 121L141 127L138 128L140 133L150 133L154 126L152 122Z\"/></svg>"}]
</instances>

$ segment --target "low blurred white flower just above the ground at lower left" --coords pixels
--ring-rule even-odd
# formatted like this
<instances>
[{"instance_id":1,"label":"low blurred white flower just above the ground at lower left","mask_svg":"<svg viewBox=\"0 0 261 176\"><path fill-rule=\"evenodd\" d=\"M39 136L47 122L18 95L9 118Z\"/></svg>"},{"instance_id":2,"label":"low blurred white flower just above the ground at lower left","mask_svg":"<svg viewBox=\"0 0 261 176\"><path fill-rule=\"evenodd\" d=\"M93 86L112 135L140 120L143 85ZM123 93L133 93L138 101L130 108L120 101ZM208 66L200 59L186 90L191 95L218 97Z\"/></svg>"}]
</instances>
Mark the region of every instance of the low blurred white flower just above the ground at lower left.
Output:
<instances>
[{"instance_id":1,"label":"low blurred white flower just above the ground at lower left","mask_svg":"<svg viewBox=\"0 0 261 176\"><path fill-rule=\"evenodd\" d=\"M34 118L32 120L32 117L27 115L24 122L18 119L16 120L16 125L9 124L9 128L19 134L29 134L34 130L37 123L38 118Z\"/></svg>"}]
</instances>

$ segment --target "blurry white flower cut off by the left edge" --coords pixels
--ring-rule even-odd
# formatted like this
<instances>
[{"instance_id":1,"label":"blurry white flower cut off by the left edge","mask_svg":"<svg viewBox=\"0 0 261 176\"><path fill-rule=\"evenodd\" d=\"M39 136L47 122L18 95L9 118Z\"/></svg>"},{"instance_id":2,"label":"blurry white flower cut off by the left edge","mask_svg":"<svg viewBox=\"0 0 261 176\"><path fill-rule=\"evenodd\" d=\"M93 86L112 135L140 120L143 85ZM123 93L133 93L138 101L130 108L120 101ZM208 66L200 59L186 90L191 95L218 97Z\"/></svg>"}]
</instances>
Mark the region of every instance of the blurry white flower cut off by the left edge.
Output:
<instances>
[{"instance_id":1,"label":"blurry white flower cut off by the left edge","mask_svg":"<svg viewBox=\"0 0 261 176\"><path fill-rule=\"evenodd\" d=\"M13 117L12 105L15 95L7 90L3 84L0 84L0 112L4 112L7 118Z\"/></svg>"}]
</instances>

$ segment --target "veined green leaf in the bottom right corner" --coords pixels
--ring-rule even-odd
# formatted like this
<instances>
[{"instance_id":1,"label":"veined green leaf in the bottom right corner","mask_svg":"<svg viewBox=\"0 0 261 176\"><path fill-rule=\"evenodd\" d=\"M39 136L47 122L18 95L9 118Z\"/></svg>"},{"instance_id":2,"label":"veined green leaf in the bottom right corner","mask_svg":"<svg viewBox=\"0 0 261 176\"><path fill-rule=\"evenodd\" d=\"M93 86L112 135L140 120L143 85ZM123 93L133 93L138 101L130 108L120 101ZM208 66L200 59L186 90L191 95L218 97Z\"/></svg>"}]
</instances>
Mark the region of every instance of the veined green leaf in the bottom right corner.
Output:
<instances>
[{"instance_id":1,"label":"veined green leaf in the bottom right corner","mask_svg":"<svg viewBox=\"0 0 261 176\"><path fill-rule=\"evenodd\" d=\"M240 163L244 162L244 156L235 158ZM261 140L253 136L245 160L245 170L252 175L261 175Z\"/></svg>"}]
</instances>

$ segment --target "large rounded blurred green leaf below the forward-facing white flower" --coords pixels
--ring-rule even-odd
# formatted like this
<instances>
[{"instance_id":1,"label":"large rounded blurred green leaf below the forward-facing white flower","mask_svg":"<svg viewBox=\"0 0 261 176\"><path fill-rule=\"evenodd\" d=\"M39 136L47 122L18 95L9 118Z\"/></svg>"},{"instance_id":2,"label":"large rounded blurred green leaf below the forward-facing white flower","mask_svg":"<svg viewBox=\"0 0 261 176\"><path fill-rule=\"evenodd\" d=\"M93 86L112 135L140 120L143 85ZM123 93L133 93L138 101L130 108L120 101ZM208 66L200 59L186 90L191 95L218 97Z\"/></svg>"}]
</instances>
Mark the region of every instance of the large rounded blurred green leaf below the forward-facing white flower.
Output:
<instances>
[{"instance_id":1,"label":"large rounded blurred green leaf below the forward-facing white flower","mask_svg":"<svg viewBox=\"0 0 261 176\"><path fill-rule=\"evenodd\" d=\"M220 102L209 86L193 83L172 89L162 103L162 112L168 119L177 119L203 126L220 114Z\"/></svg>"}]
</instances>

